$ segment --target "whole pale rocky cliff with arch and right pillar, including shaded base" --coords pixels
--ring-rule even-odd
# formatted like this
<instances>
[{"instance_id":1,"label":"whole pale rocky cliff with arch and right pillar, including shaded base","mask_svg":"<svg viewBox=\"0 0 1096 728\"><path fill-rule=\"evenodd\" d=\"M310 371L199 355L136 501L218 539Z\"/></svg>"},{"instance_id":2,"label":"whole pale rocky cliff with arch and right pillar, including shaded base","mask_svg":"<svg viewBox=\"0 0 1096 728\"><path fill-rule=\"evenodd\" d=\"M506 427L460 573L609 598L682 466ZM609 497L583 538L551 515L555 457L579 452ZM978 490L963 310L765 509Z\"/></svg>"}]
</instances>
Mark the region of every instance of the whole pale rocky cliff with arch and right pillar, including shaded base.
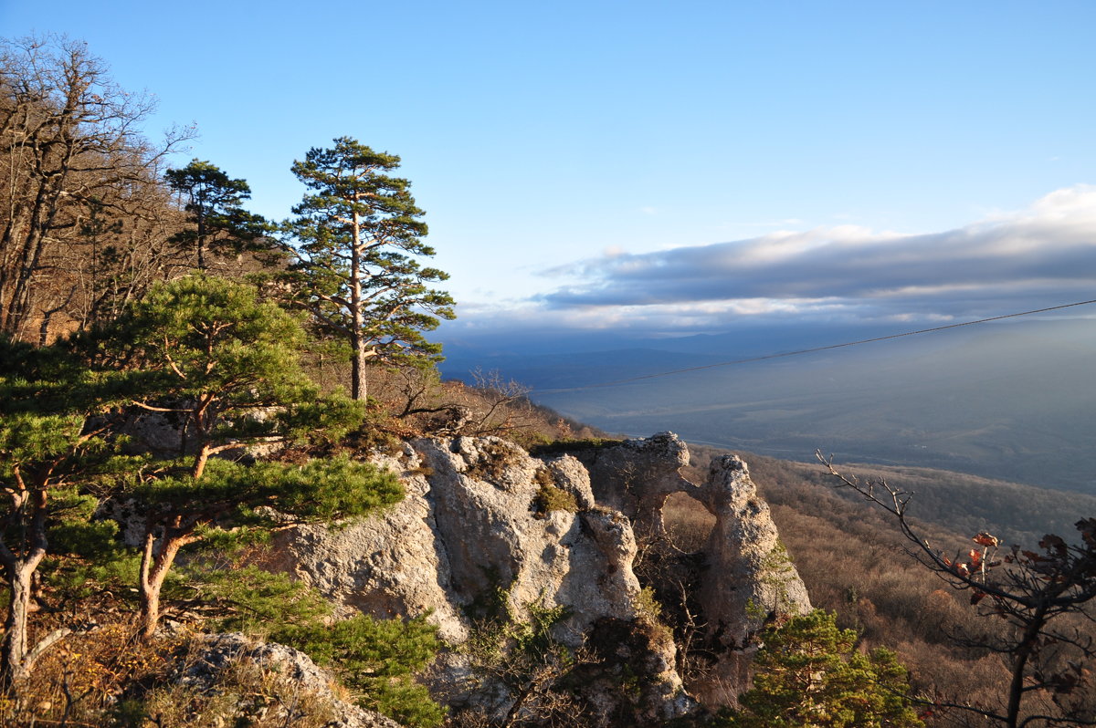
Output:
<instances>
[{"instance_id":1,"label":"whole pale rocky cliff with arch and right pillar, including shaded base","mask_svg":"<svg viewBox=\"0 0 1096 728\"><path fill-rule=\"evenodd\" d=\"M501 629L490 649L513 652L537 625L568 670L582 668L571 692L600 706L602 724L665 720L694 710L694 698L727 704L745 686L764 622L810 606L745 463L717 460L706 482L690 483L680 473L688 451L672 434L539 458L498 438L421 439L377 462L400 473L402 502L341 529L283 531L271 565L347 612L427 613L450 645L431 689L458 709L536 709L530 693L547 684L536 674L550 661L511 674L521 660L502 656L511 673L489 669L482 646ZM687 555L699 575L689 644L703 644L703 669L684 669L652 613L660 585L644 592L635 568L664 541L663 504L677 492L716 517L701 553Z\"/></svg>"}]
</instances>

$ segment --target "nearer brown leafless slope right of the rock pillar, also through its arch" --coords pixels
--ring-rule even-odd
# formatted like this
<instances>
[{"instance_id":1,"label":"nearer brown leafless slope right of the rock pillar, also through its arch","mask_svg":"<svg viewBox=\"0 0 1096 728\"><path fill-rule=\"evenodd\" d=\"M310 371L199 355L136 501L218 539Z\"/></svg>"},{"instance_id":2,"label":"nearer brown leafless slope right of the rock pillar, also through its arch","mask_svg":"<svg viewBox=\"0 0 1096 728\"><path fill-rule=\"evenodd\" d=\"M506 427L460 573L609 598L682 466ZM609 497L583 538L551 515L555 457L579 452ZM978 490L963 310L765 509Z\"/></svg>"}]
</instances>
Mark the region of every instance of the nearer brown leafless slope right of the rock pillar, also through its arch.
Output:
<instances>
[{"instance_id":1,"label":"nearer brown leafless slope right of the rock pillar, also through its arch","mask_svg":"<svg viewBox=\"0 0 1096 728\"><path fill-rule=\"evenodd\" d=\"M693 476L706 470L712 449L690 446ZM905 557L901 536L882 515L821 485L817 466L743 453L773 520L807 585L815 608L835 611L842 628L855 628L866 649L886 646L912 673L922 695L971 695L1001 705L1008 668L1002 656L957 646L961 631L1000 628L979 617L939 579ZM697 547L711 517L690 498L667 501L666 529L680 547ZM951 553L969 538L918 522L934 543ZM935 710L928 725L963 725L955 713Z\"/></svg>"}]
</instances>

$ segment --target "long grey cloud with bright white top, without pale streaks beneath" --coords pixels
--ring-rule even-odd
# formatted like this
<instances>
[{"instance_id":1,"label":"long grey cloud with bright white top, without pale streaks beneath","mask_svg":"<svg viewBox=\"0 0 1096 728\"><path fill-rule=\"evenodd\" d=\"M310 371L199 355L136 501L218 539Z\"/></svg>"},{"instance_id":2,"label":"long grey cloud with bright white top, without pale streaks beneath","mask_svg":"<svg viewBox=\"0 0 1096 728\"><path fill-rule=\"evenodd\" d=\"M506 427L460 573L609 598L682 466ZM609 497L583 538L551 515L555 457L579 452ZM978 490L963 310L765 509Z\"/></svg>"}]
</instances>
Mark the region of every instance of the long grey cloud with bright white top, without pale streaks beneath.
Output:
<instances>
[{"instance_id":1,"label":"long grey cloud with bright white top, without pale streaks beneath","mask_svg":"<svg viewBox=\"0 0 1096 728\"><path fill-rule=\"evenodd\" d=\"M550 307L698 301L933 298L1096 282L1096 187L1060 189L1029 209L939 233L858 226L777 232L729 243L615 254L568 266L580 282ZM1063 291L1064 292L1064 291Z\"/></svg>"}]
</instances>

